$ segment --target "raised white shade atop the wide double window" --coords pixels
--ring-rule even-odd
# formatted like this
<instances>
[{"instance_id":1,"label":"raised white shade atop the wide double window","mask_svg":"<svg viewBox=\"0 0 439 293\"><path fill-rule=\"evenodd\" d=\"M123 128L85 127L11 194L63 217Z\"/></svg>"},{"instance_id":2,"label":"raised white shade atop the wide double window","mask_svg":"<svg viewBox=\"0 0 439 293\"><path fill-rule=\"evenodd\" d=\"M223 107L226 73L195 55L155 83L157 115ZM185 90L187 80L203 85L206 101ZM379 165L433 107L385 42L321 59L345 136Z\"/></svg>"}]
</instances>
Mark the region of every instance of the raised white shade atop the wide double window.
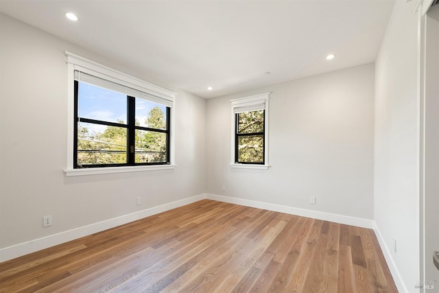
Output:
<instances>
[{"instance_id":1,"label":"raised white shade atop the wide double window","mask_svg":"<svg viewBox=\"0 0 439 293\"><path fill-rule=\"evenodd\" d=\"M75 70L75 80L78 82L84 82L86 84L92 84L94 86L99 86L104 89L109 89L110 91L116 91L117 93L122 93L123 95L130 95L132 97L139 97L141 99L146 99L147 101L154 102L156 104L161 104L172 108L173 102L169 99L163 97L157 97L155 95L150 95L144 91L139 91L138 89L133 89L130 86L119 84L117 82L112 82L104 78L99 78L95 75L91 75L79 70Z\"/></svg>"}]
</instances>

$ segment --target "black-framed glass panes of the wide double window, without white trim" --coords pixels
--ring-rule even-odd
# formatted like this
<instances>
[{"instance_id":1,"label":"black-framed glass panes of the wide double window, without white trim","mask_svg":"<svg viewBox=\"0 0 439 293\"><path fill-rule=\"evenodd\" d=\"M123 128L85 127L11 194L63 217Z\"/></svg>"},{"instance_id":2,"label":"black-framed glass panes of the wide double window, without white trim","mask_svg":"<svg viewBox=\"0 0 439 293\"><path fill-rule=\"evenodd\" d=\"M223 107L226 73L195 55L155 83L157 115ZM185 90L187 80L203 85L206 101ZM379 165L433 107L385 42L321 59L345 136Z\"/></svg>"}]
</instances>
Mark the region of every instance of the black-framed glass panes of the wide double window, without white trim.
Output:
<instances>
[{"instance_id":1,"label":"black-framed glass panes of the wide double window, without white trim","mask_svg":"<svg viewBox=\"0 0 439 293\"><path fill-rule=\"evenodd\" d=\"M75 168L169 163L169 107L77 75Z\"/></svg>"}]
</instances>

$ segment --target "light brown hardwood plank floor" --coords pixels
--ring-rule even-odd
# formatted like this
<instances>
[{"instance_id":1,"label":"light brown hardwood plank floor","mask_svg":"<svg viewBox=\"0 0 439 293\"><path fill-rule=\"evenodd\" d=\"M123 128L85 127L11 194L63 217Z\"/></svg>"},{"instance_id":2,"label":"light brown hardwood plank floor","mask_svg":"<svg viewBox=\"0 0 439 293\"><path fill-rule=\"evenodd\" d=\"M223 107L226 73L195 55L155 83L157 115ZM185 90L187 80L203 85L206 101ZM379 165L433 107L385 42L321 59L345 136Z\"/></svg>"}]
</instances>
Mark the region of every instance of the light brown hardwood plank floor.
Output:
<instances>
[{"instance_id":1,"label":"light brown hardwood plank floor","mask_svg":"<svg viewBox=\"0 0 439 293\"><path fill-rule=\"evenodd\" d=\"M397 292L366 228L201 200L0 263L0 292Z\"/></svg>"}]
</instances>

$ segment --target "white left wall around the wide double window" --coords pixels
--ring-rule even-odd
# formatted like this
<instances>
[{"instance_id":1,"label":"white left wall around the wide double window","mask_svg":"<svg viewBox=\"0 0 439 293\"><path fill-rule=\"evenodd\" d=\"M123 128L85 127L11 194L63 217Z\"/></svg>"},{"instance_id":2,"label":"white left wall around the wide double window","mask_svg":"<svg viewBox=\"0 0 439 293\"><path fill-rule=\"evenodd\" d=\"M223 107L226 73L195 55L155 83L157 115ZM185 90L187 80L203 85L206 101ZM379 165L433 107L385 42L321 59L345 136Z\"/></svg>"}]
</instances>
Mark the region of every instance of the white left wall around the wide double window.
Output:
<instances>
[{"instance_id":1,"label":"white left wall around the wide double window","mask_svg":"<svg viewBox=\"0 0 439 293\"><path fill-rule=\"evenodd\" d=\"M204 194L204 99L158 84L178 93L175 169L66 177L64 51L154 80L4 14L0 30L0 248Z\"/></svg>"}]
</instances>

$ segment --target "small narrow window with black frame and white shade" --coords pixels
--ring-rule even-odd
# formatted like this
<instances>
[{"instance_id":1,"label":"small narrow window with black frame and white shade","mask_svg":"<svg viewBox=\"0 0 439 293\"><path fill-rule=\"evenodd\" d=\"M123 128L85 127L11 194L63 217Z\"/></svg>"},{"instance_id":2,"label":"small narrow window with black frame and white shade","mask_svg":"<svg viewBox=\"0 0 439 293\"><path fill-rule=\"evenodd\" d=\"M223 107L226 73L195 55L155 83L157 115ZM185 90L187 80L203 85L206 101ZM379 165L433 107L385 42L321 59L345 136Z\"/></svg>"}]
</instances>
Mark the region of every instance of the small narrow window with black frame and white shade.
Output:
<instances>
[{"instance_id":1,"label":"small narrow window with black frame and white shade","mask_svg":"<svg viewBox=\"0 0 439 293\"><path fill-rule=\"evenodd\" d=\"M233 99L232 167L268 168L268 93Z\"/></svg>"}]
</instances>

